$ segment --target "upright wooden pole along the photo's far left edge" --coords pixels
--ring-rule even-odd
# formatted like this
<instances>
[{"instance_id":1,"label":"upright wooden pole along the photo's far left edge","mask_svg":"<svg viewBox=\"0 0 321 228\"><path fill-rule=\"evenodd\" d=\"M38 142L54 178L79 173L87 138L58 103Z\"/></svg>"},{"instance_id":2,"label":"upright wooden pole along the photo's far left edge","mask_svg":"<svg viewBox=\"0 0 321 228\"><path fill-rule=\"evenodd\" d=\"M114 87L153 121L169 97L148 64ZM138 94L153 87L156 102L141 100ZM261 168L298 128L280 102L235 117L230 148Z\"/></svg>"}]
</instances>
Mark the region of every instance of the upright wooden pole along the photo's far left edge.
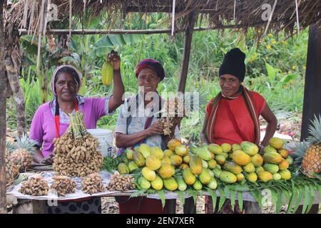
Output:
<instances>
[{"instance_id":1,"label":"upright wooden pole along the photo's far left edge","mask_svg":"<svg viewBox=\"0 0 321 228\"><path fill-rule=\"evenodd\" d=\"M6 214L6 73L4 71L4 0L0 0L0 214Z\"/></svg>"}]
</instances>

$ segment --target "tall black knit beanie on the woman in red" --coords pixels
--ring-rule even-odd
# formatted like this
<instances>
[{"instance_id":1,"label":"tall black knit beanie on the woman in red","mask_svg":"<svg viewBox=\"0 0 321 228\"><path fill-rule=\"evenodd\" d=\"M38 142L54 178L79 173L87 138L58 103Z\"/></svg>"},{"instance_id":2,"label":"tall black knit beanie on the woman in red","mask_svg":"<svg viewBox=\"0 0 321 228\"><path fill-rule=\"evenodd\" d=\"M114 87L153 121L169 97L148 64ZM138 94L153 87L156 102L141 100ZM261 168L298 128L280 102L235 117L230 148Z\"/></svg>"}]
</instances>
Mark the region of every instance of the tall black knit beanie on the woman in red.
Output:
<instances>
[{"instance_id":1,"label":"tall black knit beanie on the woman in red","mask_svg":"<svg viewBox=\"0 0 321 228\"><path fill-rule=\"evenodd\" d=\"M245 78L245 53L239 48L233 48L225 54L223 63L220 66L219 76L230 74L241 82Z\"/></svg>"}]
</instances>

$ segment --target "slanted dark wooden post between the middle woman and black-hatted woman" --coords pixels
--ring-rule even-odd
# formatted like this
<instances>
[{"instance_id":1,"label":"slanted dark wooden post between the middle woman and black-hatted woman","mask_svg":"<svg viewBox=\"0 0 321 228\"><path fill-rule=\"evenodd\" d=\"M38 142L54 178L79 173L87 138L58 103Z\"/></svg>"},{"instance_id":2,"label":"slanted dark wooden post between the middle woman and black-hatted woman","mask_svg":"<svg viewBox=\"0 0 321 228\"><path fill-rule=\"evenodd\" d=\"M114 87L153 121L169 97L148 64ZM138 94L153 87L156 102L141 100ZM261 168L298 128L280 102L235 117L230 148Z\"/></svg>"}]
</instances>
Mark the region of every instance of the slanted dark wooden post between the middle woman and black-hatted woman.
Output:
<instances>
[{"instance_id":1,"label":"slanted dark wooden post between the middle woman and black-hatted woman","mask_svg":"<svg viewBox=\"0 0 321 228\"><path fill-rule=\"evenodd\" d=\"M178 91L181 93L185 92L186 78L188 74L188 63L190 61L190 46L193 38L193 28L195 24L195 13L190 13L188 16L188 24L185 28L185 44L183 51L182 69L180 71L180 84Z\"/></svg>"}]
</instances>

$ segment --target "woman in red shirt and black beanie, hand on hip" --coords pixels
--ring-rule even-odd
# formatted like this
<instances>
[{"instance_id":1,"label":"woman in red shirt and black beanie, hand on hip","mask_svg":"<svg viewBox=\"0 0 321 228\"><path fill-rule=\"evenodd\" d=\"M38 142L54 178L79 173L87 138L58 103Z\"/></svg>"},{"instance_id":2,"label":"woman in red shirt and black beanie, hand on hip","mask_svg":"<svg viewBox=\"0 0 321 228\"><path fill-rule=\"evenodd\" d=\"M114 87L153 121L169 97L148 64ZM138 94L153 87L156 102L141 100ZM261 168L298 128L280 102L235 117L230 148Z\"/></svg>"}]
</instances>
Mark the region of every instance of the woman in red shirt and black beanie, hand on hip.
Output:
<instances>
[{"instance_id":1,"label":"woman in red shirt and black beanie, hand on hip","mask_svg":"<svg viewBox=\"0 0 321 228\"><path fill-rule=\"evenodd\" d=\"M233 48L226 53L220 66L221 92L212 98L206 107L200 140L205 143L222 145L224 142L240 144L243 141L260 143L260 121L267 121L264 147L272 138L277 127L277 118L259 93L249 91L242 85L245 78L245 53ZM211 200L206 200L206 212L212 210ZM226 208L226 207L225 207Z\"/></svg>"}]
</instances>

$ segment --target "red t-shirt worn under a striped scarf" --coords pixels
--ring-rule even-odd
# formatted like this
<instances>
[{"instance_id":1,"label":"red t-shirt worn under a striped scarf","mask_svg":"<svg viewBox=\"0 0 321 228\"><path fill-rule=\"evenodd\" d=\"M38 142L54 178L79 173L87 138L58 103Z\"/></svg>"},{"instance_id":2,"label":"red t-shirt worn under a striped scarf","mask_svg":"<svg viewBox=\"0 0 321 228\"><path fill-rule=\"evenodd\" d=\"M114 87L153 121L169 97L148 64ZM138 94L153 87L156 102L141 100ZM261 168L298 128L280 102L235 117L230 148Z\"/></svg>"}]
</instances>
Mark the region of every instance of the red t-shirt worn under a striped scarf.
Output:
<instances>
[{"instance_id":1,"label":"red t-shirt worn under a striped scarf","mask_svg":"<svg viewBox=\"0 0 321 228\"><path fill-rule=\"evenodd\" d=\"M253 103L255 105L256 113L260 116L265 108L265 99L259 93L249 91L250 97L253 99ZM225 98L223 98L225 99ZM208 117L210 115L211 108L213 107L212 98L208 105L206 106L205 115ZM243 96L240 95L238 98L234 100L226 99L228 105L230 106L230 110L232 111L236 122L238 123L238 127L240 131L250 140L250 142L255 141L255 130L254 123L250 116L250 112L245 105L245 101ZM222 145L225 143L232 144L240 144L243 139L238 135L235 128L233 127L233 123L231 122L228 112L222 105L218 106L218 113L216 114L215 120L215 128L214 128L214 142L218 145Z\"/></svg>"}]
</instances>

